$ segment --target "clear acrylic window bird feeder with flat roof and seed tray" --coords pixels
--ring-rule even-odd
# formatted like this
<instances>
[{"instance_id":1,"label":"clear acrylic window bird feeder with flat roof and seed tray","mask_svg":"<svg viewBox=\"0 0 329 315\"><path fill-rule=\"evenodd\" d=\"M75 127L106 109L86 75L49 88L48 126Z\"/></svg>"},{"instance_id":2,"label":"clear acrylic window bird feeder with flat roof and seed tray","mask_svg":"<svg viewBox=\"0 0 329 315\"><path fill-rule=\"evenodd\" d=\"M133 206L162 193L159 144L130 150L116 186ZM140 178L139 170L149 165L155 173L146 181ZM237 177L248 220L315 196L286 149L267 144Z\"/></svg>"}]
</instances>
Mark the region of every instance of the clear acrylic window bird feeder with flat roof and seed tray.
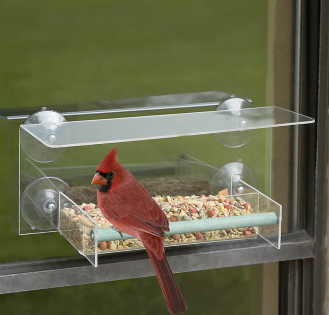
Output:
<instances>
[{"instance_id":1,"label":"clear acrylic window bird feeder with flat roof and seed tray","mask_svg":"<svg viewBox=\"0 0 329 315\"><path fill-rule=\"evenodd\" d=\"M166 246L259 235L280 248L282 206L270 198L272 128L312 118L253 107L223 92L53 106L27 115L33 111L0 112L20 235L59 231L94 266L100 253L142 248L106 221L90 184L120 144L119 162L170 221Z\"/></svg>"}]
</instances>

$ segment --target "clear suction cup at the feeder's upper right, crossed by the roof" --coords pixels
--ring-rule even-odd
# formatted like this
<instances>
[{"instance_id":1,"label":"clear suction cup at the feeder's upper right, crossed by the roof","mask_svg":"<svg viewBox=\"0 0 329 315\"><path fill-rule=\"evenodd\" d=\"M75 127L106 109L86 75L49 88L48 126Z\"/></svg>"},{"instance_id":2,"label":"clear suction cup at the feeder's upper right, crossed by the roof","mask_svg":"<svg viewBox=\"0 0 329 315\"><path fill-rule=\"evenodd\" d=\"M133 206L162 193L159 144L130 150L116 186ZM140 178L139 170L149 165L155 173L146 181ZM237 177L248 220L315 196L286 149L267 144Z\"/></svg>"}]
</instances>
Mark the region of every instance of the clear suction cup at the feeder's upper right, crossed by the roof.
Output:
<instances>
[{"instance_id":1,"label":"clear suction cup at the feeder's upper right, crossed by the roof","mask_svg":"<svg viewBox=\"0 0 329 315\"><path fill-rule=\"evenodd\" d=\"M231 99L227 99L218 105L216 110L230 110L232 115L240 116L240 109L252 107L252 104L242 97L231 97ZM243 120L243 117L241 117L241 127L243 128L245 124L246 122ZM254 133L255 130L231 131L215 133L214 137L223 146L239 148L248 143L252 139Z\"/></svg>"}]
</instances>

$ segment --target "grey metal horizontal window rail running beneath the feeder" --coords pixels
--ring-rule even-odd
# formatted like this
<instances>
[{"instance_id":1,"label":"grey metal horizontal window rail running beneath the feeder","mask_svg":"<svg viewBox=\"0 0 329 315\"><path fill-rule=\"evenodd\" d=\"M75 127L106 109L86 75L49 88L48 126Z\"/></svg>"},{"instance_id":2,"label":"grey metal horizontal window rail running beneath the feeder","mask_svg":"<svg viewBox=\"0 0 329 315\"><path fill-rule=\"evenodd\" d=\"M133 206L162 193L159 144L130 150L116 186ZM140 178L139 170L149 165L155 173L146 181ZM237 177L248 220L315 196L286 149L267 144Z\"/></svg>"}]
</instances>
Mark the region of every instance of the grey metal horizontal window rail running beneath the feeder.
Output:
<instances>
[{"instance_id":1,"label":"grey metal horizontal window rail running beneath the feeder","mask_svg":"<svg viewBox=\"0 0 329 315\"><path fill-rule=\"evenodd\" d=\"M263 264L314 257L315 242L306 231L282 235L281 249L261 238L166 249L174 273ZM0 265L0 293L149 277L154 269L144 251L102 256L98 268L80 257Z\"/></svg>"}]
</instances>

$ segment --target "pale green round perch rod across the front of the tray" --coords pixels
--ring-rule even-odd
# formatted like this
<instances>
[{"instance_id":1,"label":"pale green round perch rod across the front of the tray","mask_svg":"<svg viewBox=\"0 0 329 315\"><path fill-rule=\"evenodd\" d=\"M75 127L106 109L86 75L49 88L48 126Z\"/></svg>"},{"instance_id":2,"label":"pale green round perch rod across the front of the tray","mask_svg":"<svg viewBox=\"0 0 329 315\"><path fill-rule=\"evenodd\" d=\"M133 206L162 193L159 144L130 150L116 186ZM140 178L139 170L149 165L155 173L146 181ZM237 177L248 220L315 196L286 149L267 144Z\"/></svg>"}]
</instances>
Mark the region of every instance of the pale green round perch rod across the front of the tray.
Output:
<instances>
[{"instance_id":1,"label":"pale green round perch rod across the front of the tray","mask_svg":"<svg viewBox=\"0 0 329 315\"><path fill-rule=\"evenodd\" d=\"M166 235L226 230L249 226L271 225L276 224L277 221L278 217L275 212L264 212L226 216L224 218L169 222L170 231L166 232ZM90 232L92 240L94 240L94 235L95 230L92 229L92 231ZM113 228L98 229L98 242L116 241L120 239L121 235ZM135 239L135 237L126 233L122 233L122 239Z\"/></svg>"}]
</instances>

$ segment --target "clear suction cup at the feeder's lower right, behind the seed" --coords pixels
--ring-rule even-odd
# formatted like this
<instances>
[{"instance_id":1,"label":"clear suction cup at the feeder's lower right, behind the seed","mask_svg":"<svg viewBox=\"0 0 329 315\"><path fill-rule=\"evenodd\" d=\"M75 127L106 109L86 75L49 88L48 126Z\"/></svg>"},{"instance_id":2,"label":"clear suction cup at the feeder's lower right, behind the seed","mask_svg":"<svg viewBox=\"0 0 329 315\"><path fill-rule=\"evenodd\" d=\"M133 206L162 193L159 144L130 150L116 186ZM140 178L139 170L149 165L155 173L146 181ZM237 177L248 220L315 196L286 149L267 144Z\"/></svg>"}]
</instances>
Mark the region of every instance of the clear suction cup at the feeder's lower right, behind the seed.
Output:
<instances>
[{"instance_id":1,"label":"clear suction cup at the feeder's lower right, behind the seed","mask_svg":"<svg viewBox=\"0 0 329 315\"><path fill-rule=\"evenodd\" d=\"M231 162L225 164L213 174L210 182L210 189L212 193L225 188L230 189L232 183L231 194L251 192L252 189L241 181L252 187L257 186L256 175L249 166L242 162Z\"/></svg>"}]
</instances>

